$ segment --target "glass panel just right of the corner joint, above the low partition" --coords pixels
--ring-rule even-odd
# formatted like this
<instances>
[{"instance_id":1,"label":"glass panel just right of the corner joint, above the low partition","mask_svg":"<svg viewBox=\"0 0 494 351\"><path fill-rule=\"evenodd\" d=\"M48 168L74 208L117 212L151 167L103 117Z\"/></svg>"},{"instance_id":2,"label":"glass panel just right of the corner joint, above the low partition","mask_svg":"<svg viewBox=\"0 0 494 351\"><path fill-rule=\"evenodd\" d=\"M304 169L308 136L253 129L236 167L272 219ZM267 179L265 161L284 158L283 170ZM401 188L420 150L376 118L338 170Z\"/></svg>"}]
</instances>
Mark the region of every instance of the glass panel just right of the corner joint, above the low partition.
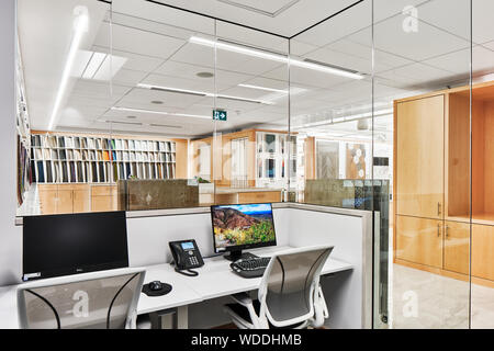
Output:
<instances>
[{"instance_id":1,"label":"glass panel just right of the corner joint, above the low partition","mask_svg":"<svg viewBox=\"0 0 494 351\"><path fill-rule=\"evenodd\" d=\"M372 210L372 36L362 2L291 39L296 201Z\"/></svg>"}]
</instances>

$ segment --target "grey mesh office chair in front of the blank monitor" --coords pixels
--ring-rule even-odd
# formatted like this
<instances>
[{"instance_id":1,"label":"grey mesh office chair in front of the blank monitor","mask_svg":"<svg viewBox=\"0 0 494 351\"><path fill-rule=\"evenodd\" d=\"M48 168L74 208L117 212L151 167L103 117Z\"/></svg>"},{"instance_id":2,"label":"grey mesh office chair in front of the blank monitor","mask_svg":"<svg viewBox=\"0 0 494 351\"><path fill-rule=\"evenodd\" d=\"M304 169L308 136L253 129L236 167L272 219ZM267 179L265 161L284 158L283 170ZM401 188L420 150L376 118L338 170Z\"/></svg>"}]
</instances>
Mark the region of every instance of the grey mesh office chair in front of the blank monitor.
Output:
<instances>
[{"instance_id":1,"label":"grey mesh office chair in front of the blank monitor","mask_svg":"<svg viewBox=\"0 0 494 351\"><path fill-rule=\"evenodd\" d=\"M135 328L145 271L103 271L23 284L18 310L23 329Z\"/></svg>"}]
</instances>

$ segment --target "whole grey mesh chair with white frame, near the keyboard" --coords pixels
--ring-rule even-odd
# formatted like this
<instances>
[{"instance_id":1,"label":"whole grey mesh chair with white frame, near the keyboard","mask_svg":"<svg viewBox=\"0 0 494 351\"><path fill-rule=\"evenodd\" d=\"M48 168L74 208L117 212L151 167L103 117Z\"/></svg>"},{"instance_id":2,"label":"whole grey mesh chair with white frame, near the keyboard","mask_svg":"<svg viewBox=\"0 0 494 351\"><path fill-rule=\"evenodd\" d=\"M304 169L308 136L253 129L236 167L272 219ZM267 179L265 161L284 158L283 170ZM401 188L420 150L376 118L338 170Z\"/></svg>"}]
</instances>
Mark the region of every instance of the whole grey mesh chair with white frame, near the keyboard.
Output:
<instances>
[{"instance_id":1,"label":"whole grey mesh chair with white frame, near the keyboard","mask_svg":"<svg viewBox=\"0 0 494 351\"><path fill-rule=\"evenodd\" d=\"M225 312L240 329L321 327L328 310L319 285L332 246L290 249L271 258L258 299L235 294Z\"/></svg>"}]
</instances>

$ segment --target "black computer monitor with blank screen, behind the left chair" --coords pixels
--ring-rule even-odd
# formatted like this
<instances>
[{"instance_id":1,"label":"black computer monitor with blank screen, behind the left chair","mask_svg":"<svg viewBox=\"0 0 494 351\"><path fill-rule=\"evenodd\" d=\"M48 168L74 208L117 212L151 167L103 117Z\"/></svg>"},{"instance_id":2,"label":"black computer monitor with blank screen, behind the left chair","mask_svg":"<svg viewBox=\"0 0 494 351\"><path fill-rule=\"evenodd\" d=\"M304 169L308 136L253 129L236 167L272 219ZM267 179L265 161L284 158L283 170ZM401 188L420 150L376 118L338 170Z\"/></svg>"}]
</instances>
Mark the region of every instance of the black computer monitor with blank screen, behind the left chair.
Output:
<instances>
[{"instance_id":1,"label":"black computer monitor with blank screen, behind the left chair","mask_svg":"<svg viewBox=\"0 0 494 351\"><path fill-rule=\"evenodd\" d=\"M125 212L23 218L24 281L128 267Z\"/></svg>"}]
</instances>

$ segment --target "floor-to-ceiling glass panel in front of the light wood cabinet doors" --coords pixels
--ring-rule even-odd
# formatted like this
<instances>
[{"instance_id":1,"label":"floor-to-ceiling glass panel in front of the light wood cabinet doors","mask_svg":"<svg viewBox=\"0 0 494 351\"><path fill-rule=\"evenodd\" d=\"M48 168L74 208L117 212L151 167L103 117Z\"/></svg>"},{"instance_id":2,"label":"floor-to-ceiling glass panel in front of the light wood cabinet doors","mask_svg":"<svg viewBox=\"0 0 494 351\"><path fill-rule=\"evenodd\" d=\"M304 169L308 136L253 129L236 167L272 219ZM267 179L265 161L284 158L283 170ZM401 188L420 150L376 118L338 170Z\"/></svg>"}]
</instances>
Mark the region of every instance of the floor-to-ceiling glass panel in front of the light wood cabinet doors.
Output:
<instances>
[{"instance_id":1,"label":"floor-to-ceiling glass panel in front of the light wood cabinet doors","mask_svg":"<svg viewBox=\"0 0 494 351\"><path fill-rule=\"evenodd\" d=\"M375 0L372 29L349 38L373 31L374 176L393 189L377 326L470 326L470 7Z\"/></svg>"}]
</instances>

